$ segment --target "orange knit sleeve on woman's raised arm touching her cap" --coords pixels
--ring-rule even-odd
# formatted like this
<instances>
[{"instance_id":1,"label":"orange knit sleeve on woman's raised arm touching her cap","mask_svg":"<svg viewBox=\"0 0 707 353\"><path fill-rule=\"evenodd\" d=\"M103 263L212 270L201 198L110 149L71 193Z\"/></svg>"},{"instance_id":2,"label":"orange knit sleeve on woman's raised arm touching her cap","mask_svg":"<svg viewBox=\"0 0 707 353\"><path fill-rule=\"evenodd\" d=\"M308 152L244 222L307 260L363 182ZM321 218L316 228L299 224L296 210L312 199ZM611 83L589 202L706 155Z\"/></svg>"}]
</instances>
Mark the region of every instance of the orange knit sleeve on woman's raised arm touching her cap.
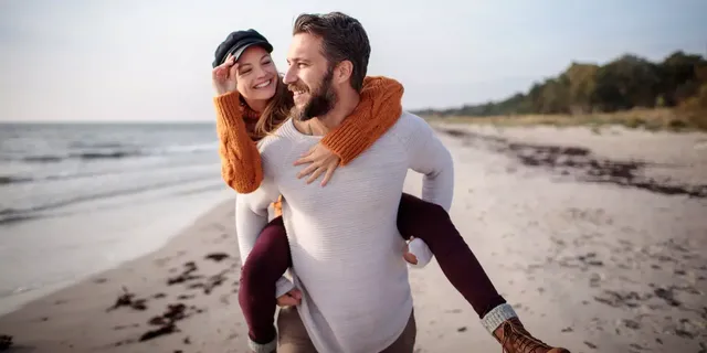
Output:
<instances>
[{"instance_id":1,"label":"orange knit sleeve on woman's raised arm touching her cap","mask_svg":"<svg viewBox=\"0 0 707 353\"><path fill-rule=\"evenodd\" d=\"M245 129L239 93L217 96L213 104L223 181L239 193L253 192L263 181L263 167L257 147Z\"/></svg>"}]
</instances>

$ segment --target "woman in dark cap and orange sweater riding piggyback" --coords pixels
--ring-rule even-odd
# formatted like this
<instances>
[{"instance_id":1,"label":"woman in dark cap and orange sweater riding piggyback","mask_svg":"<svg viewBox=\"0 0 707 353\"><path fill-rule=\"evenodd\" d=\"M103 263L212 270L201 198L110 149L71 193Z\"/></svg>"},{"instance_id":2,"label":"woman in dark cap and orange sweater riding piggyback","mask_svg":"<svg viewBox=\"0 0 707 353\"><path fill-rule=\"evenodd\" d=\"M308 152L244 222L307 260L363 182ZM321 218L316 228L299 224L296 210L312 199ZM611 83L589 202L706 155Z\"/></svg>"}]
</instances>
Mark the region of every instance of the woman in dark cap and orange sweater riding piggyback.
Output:
<instances>
[{"instance_id":1,"label":"woman in dark cap and orange sweater riding piggyback","mask_svg":"<svg viewBox=\"0 0 707 353\"><path fill-rule=\"evenodd\" d=\"M277 129L293 107L291 93L270 56L272 50L256 31L239 31L231 33L219 46L212 64L222 173L225 182L240 193L253 192L263 179L254 141ZM370 114L377 106L376 99L391 94L397 105L378 105L384 108ZM401 97L399 83L384 77L367 77L361 101L351 116L325 136L307 156L293 161L310 163L300 176L310 174L307 182L312 182L324 173L324 186L338 164L350 162L395 124L402 111ZM276 212L279 213L278 207ZM403 194L398 227L403 237L414 234L426 243L447 279L508 352L566 352L541 343L524 329L441 206ZM410 254L405 259L413 264L416 260ZM276 293L276 281L289 267L289 261L286 231L282 216L277 216L263 229L242 267L239 302L255 352L275 350L273 319L276 306L296 306L300 299L296 289Z\"/></svg>"}]
</instances>

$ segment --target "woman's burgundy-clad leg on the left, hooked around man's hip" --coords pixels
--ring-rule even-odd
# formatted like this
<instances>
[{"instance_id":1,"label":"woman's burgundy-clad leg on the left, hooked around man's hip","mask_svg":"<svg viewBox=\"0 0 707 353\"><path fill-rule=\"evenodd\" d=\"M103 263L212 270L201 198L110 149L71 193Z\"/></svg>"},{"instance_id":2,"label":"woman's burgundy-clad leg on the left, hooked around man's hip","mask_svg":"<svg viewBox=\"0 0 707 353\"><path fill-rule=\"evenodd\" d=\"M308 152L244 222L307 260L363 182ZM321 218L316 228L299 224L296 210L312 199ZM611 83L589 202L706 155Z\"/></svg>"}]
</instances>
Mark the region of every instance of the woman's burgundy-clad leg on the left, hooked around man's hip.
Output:
<instances>
[{"instance_id":1,"label":"woman's burgundy-clad leg on the left, hooked around man's hip","mask_svg":"<svg viewBox=\"0 0 707 353\"><path fill-rule=\"evenodd\" d=\"M291 264L287 233L282 216L278 216L263 228L241 268L239 303L249 327L250 341L255 343L251 345L256 352L275 351L275 282Z\"/></svg>"}]
</instances>

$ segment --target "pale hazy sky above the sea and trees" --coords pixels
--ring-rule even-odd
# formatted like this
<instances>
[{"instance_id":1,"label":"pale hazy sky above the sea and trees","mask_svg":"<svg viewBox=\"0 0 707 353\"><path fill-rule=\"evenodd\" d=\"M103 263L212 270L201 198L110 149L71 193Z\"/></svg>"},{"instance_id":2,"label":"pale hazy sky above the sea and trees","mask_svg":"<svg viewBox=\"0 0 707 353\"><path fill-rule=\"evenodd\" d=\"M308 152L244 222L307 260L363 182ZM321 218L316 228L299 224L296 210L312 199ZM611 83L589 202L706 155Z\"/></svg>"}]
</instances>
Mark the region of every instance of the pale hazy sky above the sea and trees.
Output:
<instances>
[{"instance_id":1,"label":"pale hazy sky above the sea and trees","mask_svg":"<svg viewBox=\"0 0 707 353\"><path fill-rule=\"evenodd\" d=\"M361 21L368 74L405 109L503 99L571 62L707 56L705 0L0 0L0 121L211 121L230 32L261 32L284 72L296 17L329 11Z\"/></svg>"}]
</instances>

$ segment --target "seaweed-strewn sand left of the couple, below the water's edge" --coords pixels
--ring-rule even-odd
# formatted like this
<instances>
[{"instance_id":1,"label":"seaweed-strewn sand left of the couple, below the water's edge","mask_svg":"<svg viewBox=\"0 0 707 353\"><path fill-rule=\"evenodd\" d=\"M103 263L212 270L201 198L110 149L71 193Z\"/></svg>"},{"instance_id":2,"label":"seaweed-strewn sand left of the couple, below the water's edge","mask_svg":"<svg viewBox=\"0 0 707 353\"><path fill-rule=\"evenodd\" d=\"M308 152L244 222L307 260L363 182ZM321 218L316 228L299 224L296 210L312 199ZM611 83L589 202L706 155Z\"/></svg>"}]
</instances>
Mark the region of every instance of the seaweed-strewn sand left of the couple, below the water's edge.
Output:
<instances>
[{"instance_id":1,"label":"seaweed-strewn sand left of the couple, below the water's edge","mask_svg":"<svg viewBox=\"0 0 707 353\"><path fill-rule=\"evenodd\" d=\"M238 247L223 246L235 239L221 225L232 216L232 208L233 201L222 201L157 250L0 317L0 334L13 336L12 349L19 352L123 352L137 343L141 344L129 350L159 346L171 352L202 343L180 333L214 324L219 308L234 300ZM240 318L220 320L232 319ZM235 321L222 328L243 325ZM229 341L232 346L246 346L240 332L228 330L214 329L203 339L209 339L203 344ZM213 349L223 352L224 347Z\"/></svg>"}]
</instances>

